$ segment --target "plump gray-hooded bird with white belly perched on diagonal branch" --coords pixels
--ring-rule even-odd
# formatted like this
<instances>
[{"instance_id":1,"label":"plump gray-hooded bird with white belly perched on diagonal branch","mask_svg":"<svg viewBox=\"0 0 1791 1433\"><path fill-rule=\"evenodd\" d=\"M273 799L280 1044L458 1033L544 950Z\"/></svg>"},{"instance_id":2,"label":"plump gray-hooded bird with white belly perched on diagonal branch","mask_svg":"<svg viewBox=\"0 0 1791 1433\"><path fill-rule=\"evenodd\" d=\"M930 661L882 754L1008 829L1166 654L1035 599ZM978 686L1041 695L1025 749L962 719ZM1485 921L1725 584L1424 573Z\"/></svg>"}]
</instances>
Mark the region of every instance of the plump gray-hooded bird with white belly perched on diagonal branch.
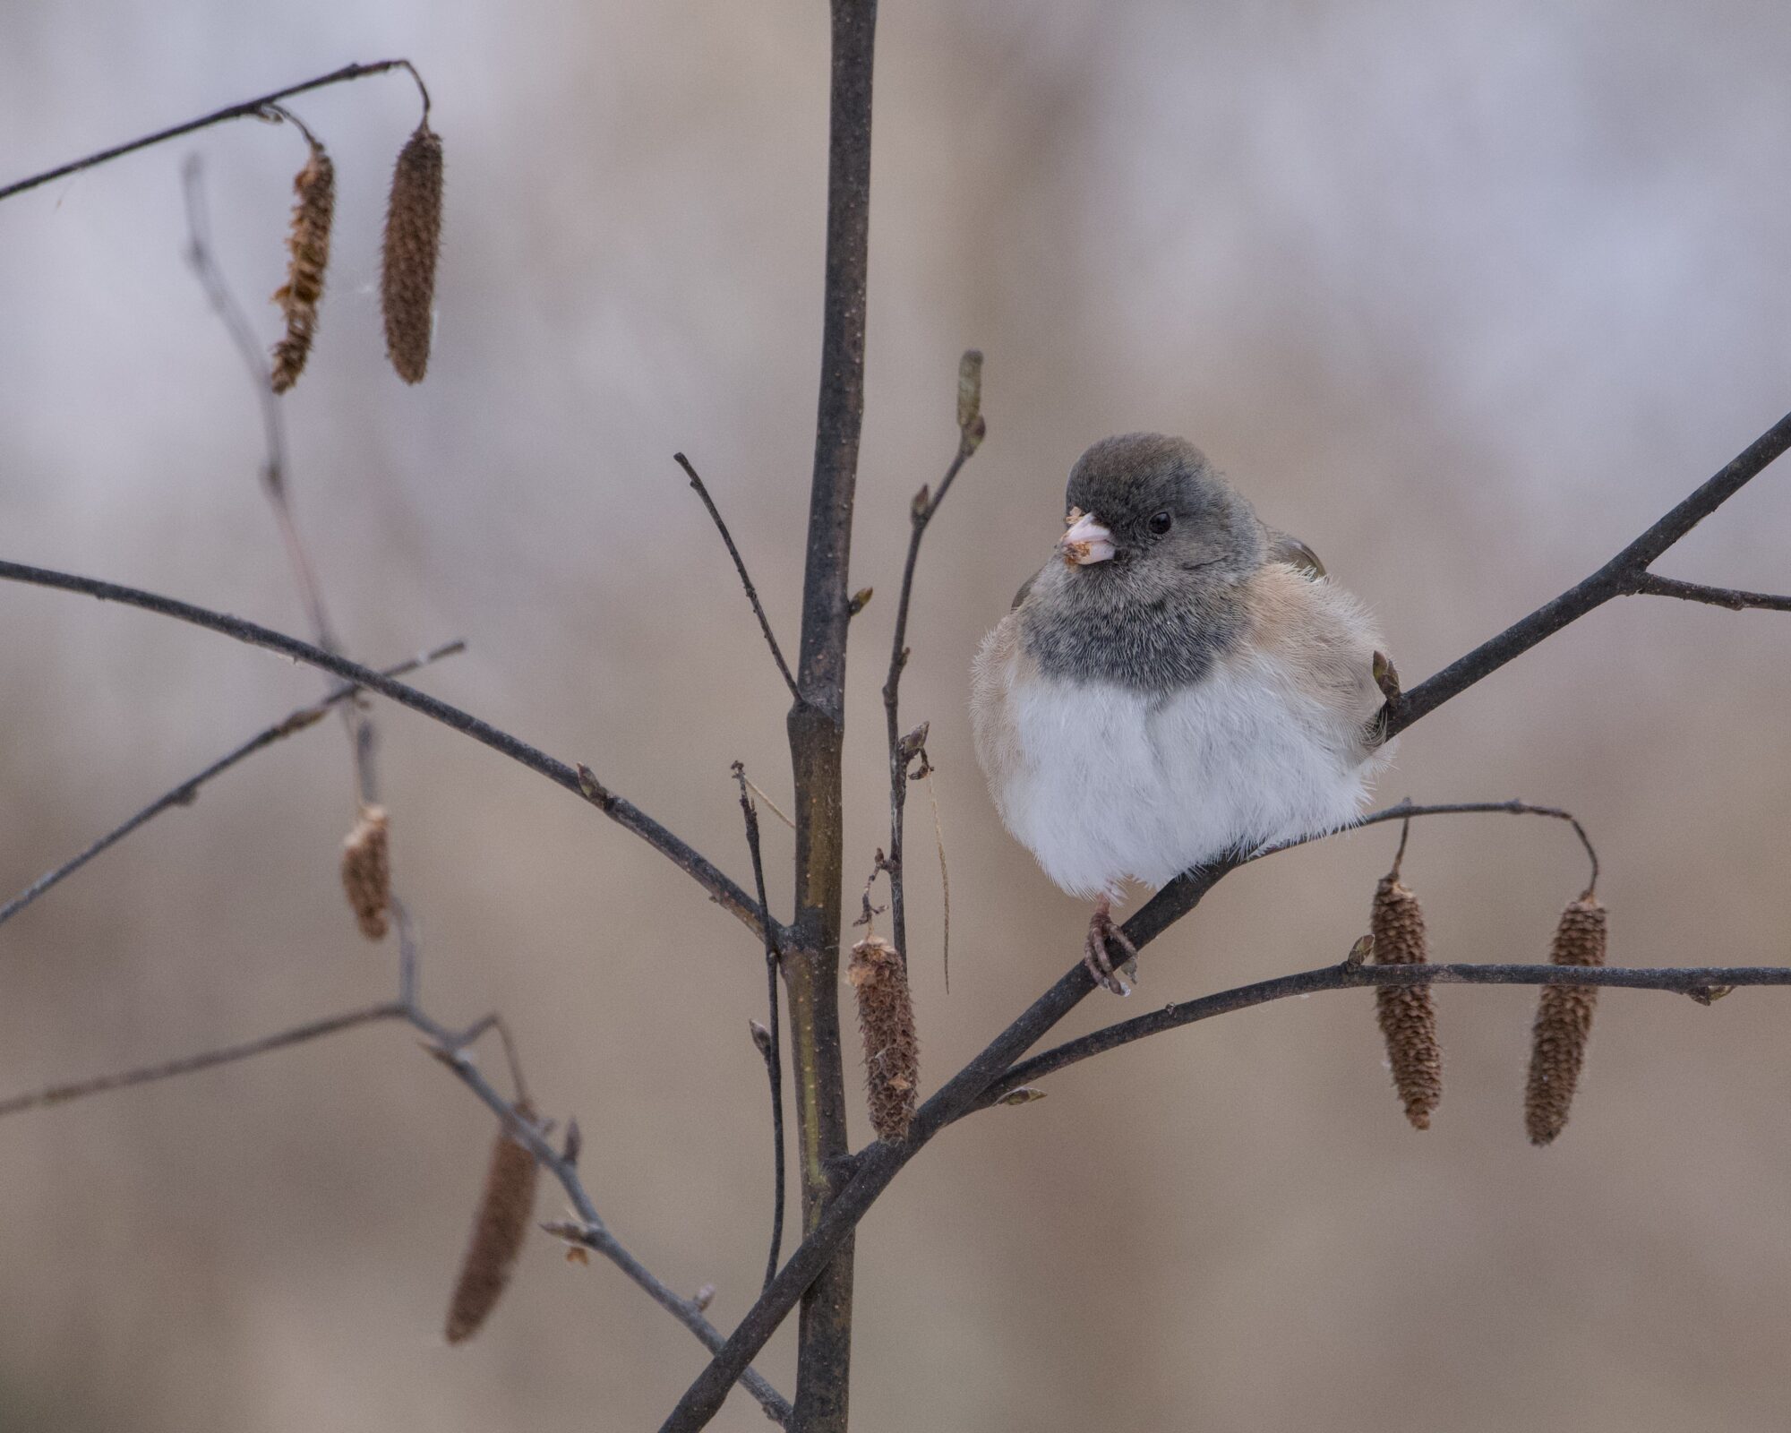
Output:
<instances>
[{"instance_id":1,"label":"plump gray-hooded bird with white belly perched on diagonal branch","mask_svg":"<svg viewBox=\"0 0 1791 1433\"><path fill-rule=\"evenodd\" d=\"M1386 758L1392 665L1311 548L1191 442L1127 433L1069 471L1067 530L976 654L976 756L1001 820L1094 896L1347 826Z\"/></svg>"}]
</instances>

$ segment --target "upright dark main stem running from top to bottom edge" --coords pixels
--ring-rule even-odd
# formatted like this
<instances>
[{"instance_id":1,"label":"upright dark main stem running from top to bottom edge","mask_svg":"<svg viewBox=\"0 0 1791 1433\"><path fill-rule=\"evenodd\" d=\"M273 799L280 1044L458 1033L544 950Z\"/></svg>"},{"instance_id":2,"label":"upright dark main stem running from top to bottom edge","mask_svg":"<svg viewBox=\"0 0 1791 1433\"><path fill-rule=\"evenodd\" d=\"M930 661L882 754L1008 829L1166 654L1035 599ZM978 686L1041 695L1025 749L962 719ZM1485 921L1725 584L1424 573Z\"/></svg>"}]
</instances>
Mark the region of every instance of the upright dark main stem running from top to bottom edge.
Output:
<instances>
[{"instance_id":1,"label":"upright dark main stem running from top to bottom edge","mask_svg":"<svg viewBox=\"0 0 1791 1433\"><path fill-rule=\"evenodd\" d=\"M802 1229L815 1227L851 1154L840 1050L840 896L845 867L847 568L858 430L865 410L865 276L870 226L870 64L876 0L833 0L827 276L815 476L802 582L801 699L790 711L795 776L795 949L784 958L802 1168ZM844 1433L853 1358L853 1247L802 1299L795 1426Z\"/></svg>"}]
</instances>

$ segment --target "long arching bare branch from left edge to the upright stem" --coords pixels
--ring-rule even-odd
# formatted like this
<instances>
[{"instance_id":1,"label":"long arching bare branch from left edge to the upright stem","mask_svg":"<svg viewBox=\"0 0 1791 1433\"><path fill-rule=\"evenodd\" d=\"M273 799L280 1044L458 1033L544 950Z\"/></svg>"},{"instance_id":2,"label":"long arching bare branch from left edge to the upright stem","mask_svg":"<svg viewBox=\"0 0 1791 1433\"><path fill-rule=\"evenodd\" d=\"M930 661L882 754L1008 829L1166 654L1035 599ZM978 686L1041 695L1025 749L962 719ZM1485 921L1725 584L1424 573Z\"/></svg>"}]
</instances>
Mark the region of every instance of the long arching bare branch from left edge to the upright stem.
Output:
<instances>
[{"instance_id":1,"label":"long arching bare branch from left edge to the upright stem","mask_svg":"<svg viewBox=\"0 0 1791 1433\"><path fill-rule=\"evenodd\" d=\"M489 722L480 720L469 711L462 711L450 702L430 697L426 691L417 691L414 686L405 686L399 681L374 672L371 666L362 666L347 657L331 656L308 641L299 641L285 632L276 632L270 627L261 627L260 623L247 622L240 616L226 616L224 613L213 613L206 607L195 607L190 602L179 602L172 596L159 596L156 593L147 593L140 588L125 588L116 582L102 582L93 577L75 577L73 573L50 571L48 568L30 568L23 562L5 561L0 561L0 580L84 593L86 596L97 596L100 602L120 602L127 607L141 607L147 613L172 616L177 622L188 622L193 627L222 632L227 638L247 643L249 647L279 652L294 661L317 666L322 672L331 672L344 681L367 688L369 691L378 691L381 697L389 697L399 706L421 711L424 716L453 727L464 736L471 736L475 742L509 756L512 761L519 761L528 767L528 770L544 776L555 786L564 786L568 792L584 795L584 799L604 811L604 815L638 835L659 851L659 854L666 856L673 865L691 876L704 890L709 892L709 897L718 906L741 921L754 935L763 933L759 931L758 903L733 880L722 874L722 871L702 856L693 845L672 835L672 831L647 815L634 802L625 801L609 788L602 786L596 777L591 777L589 774L580 777L578 768L553 759L546 752L528 745L507 731L501 731L500 727L491 725Z\"/></svg>"}]
</instances>

